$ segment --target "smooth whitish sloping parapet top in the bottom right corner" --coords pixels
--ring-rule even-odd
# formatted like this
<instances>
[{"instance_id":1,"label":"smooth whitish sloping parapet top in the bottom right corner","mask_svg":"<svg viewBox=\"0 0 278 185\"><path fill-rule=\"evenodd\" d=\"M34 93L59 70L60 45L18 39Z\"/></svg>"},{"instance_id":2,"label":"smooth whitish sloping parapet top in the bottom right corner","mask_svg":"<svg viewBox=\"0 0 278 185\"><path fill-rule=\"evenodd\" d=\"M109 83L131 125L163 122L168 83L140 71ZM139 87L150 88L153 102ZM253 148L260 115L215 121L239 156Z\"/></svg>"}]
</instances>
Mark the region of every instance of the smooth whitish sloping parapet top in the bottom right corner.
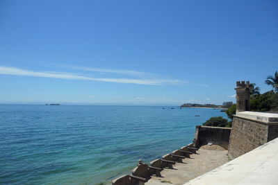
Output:
<instances>
[{"instance_id":1,"label":"smooth whitish sloping parapet top in the bottom right corner","mask_svg":"<svg viewBox=\"0 0 278 185\"><path fill-rule=\"evenodd\" d=\"M277 185L277 154L278 138L190 180L186 185Z\"/></svg>"}]
</instances>

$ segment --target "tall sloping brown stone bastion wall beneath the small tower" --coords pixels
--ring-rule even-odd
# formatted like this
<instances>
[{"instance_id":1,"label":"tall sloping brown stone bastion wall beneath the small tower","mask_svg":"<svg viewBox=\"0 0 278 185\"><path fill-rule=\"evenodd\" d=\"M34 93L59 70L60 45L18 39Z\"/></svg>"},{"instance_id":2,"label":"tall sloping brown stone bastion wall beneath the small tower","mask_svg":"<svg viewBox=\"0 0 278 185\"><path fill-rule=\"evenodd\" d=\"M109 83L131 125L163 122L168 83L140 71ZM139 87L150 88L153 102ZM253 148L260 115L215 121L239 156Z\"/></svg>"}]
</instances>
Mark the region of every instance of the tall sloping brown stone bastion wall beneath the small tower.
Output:
<instances>
[{"instance_id":1,"label":"tall sloping brown stone bastion wall beneath the small tower","mask_svg":"<svg viewBox=\"0 0 278 185\"><path fill-rule=\"evenodd\" d=\"M269 122L263 113L258 112L259 116L254 116L254 112L239 114L234 115L228 148L229 159L244 155L278 136L277 123Z\"/></svg>"}]
</instances>

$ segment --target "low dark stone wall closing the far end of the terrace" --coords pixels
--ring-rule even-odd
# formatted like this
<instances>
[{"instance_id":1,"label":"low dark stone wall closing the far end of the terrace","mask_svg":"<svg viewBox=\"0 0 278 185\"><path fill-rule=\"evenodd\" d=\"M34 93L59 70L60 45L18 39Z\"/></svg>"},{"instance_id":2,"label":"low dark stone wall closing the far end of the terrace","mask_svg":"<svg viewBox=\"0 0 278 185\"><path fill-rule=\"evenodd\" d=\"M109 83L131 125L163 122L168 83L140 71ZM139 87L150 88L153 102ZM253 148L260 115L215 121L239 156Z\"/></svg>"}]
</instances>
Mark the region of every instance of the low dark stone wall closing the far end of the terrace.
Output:
<instances>
[{"instance_id":1,"label":"low dark stone wall closing the far end of the terrace","mask_svg":"<svg viewBox=\"0 0 278 185\"><path fill-rule=\"evenodd\" d=\"M195 132L196 146L212 143L228 149L231 128L197 126Z\"/></svg>"}]
</instances>

